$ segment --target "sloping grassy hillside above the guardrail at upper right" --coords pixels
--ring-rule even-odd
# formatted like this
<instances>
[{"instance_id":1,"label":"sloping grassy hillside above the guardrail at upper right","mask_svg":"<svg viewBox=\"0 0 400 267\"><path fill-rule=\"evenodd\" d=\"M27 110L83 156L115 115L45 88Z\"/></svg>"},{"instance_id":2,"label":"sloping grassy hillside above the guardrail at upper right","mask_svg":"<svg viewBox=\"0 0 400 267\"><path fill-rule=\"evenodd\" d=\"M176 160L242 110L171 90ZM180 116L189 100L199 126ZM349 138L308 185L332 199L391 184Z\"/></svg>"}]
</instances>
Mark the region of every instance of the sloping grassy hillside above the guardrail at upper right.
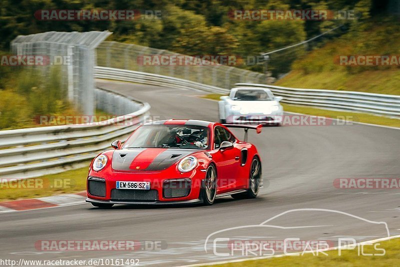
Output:
<instances>
[{"instance_id":1,"label":"sloping grassy hillside above the guardrail at upper right","mask_svg":"<svg viewBox=\"0 0 400 267\"><path fill-rule=\"evenodd\" d=\"M274 85L400 95L399 66L344 66L335 61L339 55L396 55L398 47L398 19L376 18L298 58Z\"/></svg>"}]
</instances>

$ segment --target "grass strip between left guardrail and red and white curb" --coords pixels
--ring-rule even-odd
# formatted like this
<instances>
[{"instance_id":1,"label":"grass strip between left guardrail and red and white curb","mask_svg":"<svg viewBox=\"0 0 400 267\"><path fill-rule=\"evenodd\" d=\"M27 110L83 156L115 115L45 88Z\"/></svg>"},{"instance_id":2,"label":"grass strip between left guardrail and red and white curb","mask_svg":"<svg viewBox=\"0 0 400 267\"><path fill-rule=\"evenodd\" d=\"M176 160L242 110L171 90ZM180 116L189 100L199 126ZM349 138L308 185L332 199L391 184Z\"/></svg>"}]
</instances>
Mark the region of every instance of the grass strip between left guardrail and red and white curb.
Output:
<instances>
[{"instance_id":1,"label":"grass strip between left guardrail and red and white curb","mask_svg":"<svg viewBox=\"0 0 400 267\"><path fill-rule=\"evenodd\" d=\"M87 167L29 178L22 184L0 180L0 201L80 192L86 189L88 166L89 162Z\"/></svg>"}]
</instances>

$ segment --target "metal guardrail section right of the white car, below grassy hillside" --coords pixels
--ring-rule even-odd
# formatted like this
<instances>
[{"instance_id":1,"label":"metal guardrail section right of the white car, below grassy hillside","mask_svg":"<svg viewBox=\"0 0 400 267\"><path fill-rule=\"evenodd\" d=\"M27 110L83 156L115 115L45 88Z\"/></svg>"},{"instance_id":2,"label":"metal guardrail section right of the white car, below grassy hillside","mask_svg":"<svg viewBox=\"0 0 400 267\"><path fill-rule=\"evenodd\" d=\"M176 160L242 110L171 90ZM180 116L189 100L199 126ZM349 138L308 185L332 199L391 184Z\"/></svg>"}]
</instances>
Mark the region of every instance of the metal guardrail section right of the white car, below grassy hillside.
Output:
<instances>
[{"instance_id":1,"label":"metal guardrail section right of the white car, below grassy hillside","mask_svg":"<svg viewBox=\"0 0 400 267\"><path fill-rule=\"evenodd\" d=\"M282 86L236 83L235 86L264 87L282 96L281 102L327 109L366 112L386 116L400 116L400 95L288 88Z\"/></svg>"}]
</instances>

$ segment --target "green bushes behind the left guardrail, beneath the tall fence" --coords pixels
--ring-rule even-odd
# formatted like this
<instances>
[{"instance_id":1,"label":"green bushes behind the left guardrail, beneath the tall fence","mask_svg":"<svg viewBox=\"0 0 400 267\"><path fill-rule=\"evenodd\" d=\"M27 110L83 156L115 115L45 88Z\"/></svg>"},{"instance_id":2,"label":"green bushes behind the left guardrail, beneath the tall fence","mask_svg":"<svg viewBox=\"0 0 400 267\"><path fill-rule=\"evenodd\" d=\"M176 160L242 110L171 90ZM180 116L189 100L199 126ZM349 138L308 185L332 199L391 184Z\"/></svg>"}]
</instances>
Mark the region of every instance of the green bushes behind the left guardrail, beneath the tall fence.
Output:
<instances>
[{"instance_id":1,"label":"green bushes behind the left guardrail, beneath the tall fence","mask_svg":"<svg viewBox=\"0 0 400 267\"><path fill-rule=\"evenodd\" d=\"M59 68L15 69L0 80L6 85L0 90L0 129L37 126L34 118L38 115L77 113L70 110Z\"/></svg>"}]
</instances>

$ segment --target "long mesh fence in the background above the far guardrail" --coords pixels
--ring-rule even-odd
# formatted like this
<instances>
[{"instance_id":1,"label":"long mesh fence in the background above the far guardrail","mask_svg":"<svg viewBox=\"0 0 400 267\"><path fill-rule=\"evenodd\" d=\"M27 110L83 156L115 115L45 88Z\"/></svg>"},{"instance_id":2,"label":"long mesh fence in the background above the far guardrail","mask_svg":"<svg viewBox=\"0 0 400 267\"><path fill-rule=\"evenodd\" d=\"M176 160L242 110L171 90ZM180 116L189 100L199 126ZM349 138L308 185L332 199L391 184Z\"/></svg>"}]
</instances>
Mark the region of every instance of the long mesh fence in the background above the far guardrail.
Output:
<instances>
[{"instance_id":1,"label":"long mesh fence in the background above the far guardrail","mask_svg":"<svg viewBox=\"0 0 400 267\"><path fill-rule=\"evenodd\" d=\"M202 83L214 87L229 89L237 82L264 83L267 76L260 72L240 69L226 64L179 64L168 63L146 64L143 62L145 56L159 57L162 55L171 57L184 57L168 50L161 50L137 44L120 43L115 41L104 41L96 48L97 66L118 69L133 70L152 73L162 76L174 77L192 82ZM239 58L237 58L239 62ZM144 60L145 61L145 60Z\"/></svg>"}]
</instances>

